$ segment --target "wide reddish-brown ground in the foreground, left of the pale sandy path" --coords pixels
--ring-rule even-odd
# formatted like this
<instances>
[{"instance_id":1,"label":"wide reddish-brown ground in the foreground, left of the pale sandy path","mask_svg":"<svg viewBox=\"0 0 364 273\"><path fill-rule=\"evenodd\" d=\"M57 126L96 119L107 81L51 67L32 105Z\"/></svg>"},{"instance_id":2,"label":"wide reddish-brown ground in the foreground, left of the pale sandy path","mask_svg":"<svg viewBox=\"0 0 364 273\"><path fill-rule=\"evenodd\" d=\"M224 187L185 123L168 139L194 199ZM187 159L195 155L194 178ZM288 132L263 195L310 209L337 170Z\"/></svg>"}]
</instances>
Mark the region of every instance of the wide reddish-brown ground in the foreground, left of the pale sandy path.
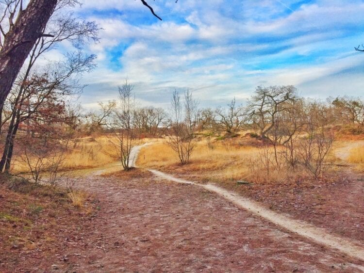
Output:
<instances>
[{"instance_id":1,"label":"wide reddish-brown ground in the foreground, left of the pale sandy path","mask_svg":"<svg viewBox=\"0 0 364 273\"><path fill-rule=\"evenodd\" d=\"M61 214L55 226L45 227L56 240L33 250L1 250L0 271L363 270L364 261L287 233L197 186L158 181L138 170L77 182L95 196L97 214Z\"/></svg>"}]
</instances>

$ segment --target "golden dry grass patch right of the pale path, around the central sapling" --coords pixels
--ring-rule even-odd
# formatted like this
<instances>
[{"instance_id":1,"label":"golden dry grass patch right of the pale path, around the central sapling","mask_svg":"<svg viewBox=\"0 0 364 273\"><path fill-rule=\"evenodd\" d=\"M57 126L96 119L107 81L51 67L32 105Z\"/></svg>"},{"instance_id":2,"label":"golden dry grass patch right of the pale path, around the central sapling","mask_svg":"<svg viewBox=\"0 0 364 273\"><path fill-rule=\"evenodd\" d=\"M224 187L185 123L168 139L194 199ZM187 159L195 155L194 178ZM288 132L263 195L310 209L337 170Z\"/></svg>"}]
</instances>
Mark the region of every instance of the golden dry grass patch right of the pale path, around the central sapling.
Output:
<instances>
[{"instance_id":1,"label":"golden dry grass patch right of the pale path, around the central sapling","mask_svg":"<svg viewBox=\"0 0 364 273\"><path fill-rule=\"evenodd\" d=\"M192 179L213 182L235 183L237 180L247 180L256 183L286 183L307 177L303 170L294 173L273 167L268 174L261 164L260 153L261 148L239 145L234 140L203 140L196 143L190 164L180 165L172 149L166 143L158 143L141 150L137 165L188 174Z\"/></svg>"}]
</instances>

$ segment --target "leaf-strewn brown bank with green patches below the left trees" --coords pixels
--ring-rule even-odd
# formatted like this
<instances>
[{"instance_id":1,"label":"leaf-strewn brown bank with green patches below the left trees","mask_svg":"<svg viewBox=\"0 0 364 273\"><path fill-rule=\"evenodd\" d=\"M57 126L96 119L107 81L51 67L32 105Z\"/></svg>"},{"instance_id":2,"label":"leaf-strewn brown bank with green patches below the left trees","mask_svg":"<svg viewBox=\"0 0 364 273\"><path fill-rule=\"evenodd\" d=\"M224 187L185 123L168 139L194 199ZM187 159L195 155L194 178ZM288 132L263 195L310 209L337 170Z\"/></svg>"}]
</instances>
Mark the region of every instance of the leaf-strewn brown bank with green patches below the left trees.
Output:
<instances>
[{"instance_id":1,"label":"leaf-strewn brown bank with green patches below the left trees","mask_svg":"<svg viewBox=\"0 0 364 273\"><path fill-rule=\"evenodd\" d=\"M50 270L66 252L65 241L82 236L95 215L91 199L83 209L71 206L64 191L0 182L0 272ZM41 265L47 265L44 268Z\"/></svg>"}]
</instances>

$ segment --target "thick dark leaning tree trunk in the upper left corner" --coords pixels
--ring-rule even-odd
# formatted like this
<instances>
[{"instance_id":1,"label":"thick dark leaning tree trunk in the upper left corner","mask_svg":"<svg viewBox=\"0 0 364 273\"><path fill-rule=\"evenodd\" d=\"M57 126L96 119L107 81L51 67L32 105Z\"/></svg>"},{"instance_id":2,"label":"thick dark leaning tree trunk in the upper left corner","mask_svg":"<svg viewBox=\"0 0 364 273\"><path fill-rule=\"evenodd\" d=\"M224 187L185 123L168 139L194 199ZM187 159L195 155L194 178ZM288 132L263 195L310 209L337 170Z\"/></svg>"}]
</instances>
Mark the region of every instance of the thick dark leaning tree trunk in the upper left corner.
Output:
<instances>
[{"instance_id":1,"label":"thick dark leaning tree trunk in the upper left corner","mask_svg":"<svg viewBox=\"0 0 364 273\"><path fill-rule=\"evenodd\" d=\"M42 36L57 0L31 0L6 34L0 51L0 108L36 40Z\"/></svg>"}]
</instances>

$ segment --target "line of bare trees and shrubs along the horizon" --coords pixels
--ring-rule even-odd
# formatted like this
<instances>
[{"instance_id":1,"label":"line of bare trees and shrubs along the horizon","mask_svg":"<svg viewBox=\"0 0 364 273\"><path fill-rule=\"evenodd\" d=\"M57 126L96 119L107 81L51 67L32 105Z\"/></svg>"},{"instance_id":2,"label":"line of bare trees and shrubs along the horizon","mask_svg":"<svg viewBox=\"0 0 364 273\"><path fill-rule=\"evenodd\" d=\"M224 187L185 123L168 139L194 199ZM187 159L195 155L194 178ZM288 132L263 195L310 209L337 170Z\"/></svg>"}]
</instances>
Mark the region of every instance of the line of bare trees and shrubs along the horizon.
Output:
<instances>
[{"instance_id":1,"label":"line of bare trees and shrubs along the horizon","mask_svg":"<svg viewBox=\"0 0 364 273\"><path fill-rule=\"evenodd\" d=\"M334 139L330 128L344 124L364 132L363 99L342 96L313 100L299 97L292 85L258 86L244 106L233 98L227 107L215 109L199 109L188 89L183 96L174 91L170 109L135 107L133 100L132 110L123 116L118 113L120 104L116 101L99 103L99 111L89 113L83 120L83 131L118 130L133 139L162 136L182 164L189 162L197 134L234 137L241 131L250 131L273 147L273 154L263 152L267 172L282 165L295 168L299 163L314 177L321 176L326 166ZM120 126L125 117L127 126Z\"/></svg>"}]
</instances>

